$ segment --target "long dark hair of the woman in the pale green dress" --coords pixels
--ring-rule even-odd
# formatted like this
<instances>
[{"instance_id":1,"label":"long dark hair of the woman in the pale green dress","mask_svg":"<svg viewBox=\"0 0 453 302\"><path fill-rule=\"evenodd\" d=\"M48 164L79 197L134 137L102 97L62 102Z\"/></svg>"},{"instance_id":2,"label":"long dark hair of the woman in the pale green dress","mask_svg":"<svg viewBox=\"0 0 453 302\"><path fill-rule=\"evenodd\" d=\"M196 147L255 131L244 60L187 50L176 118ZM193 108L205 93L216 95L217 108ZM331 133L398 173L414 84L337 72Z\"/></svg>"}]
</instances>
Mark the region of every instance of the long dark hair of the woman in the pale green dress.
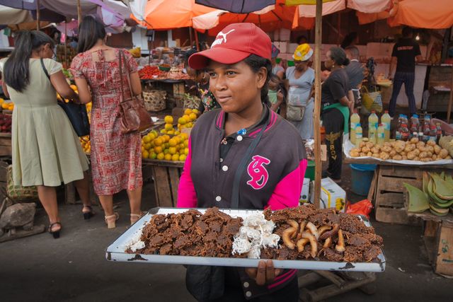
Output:
<instances>
[{"instance_id":1,"label":"long dark hair of the woman in the pale green dress","mask_svg":"<svg viewBox=\"0 0 453 302\"><path fill-rule=\"evenodd\" d=\"M4 65L4 81L15 91L22 92L30 83L29 61L33 50L50 44L53 49L55 41L39 30L23 30L16 33L15 47Z\"/></svg>"}]
</instances>

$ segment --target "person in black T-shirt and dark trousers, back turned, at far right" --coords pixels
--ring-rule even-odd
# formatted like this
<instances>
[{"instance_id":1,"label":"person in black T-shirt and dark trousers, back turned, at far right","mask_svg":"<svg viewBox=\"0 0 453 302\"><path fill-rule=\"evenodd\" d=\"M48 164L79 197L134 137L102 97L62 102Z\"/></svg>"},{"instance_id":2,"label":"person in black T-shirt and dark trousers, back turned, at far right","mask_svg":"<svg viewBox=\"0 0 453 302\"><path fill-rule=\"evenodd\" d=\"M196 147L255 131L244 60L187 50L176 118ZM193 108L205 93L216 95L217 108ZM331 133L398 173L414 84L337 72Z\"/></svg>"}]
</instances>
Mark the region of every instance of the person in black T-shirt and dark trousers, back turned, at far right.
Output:
<instances>
[{"instance_id":1,"label":"person in black T-shirt and dark trousers, back turned, at far right","mask_svg":"<svg viewBox=\"0 0 453 302\"><path fill-rule=\"evenodd\" d=\"M394 45L394 50L391 52L389 79L391 79L396 65L394 90L391 93L389 105L389 114L391 117L395 115L396 99L403 83L408 97L409 113L414 115L417 111L417 108L415 108L415 97L413 95L415 59L417 62L422 61L420 46L413 40L412 28L406 27L403 28L403 37Z\"/></svg>"}]
</instances>

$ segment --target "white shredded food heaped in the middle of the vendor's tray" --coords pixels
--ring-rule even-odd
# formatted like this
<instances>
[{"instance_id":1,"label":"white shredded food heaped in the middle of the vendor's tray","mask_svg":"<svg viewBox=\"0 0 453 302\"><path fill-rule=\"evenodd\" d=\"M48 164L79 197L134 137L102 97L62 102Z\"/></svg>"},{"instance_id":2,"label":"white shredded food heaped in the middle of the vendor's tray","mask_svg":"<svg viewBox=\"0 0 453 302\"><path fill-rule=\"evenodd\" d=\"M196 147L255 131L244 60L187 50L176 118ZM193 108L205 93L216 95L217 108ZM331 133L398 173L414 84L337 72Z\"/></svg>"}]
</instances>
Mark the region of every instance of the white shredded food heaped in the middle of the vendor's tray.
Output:
<instances>
[{"instance_id":1,"label":"white shredded food heaped in the middle of the vendor's tray","mask_svg":"<svg viewBox=\"0 0 453 302\"><path fill-rule=\"evenodd\" d=\"M234 254L248 253L248 258L259 259L261 248L277 248L280 236L273 234L275 223L264 218L263 213L255 213L243 219L243 226L234 236Z\"/></svg>"}]
</instances>

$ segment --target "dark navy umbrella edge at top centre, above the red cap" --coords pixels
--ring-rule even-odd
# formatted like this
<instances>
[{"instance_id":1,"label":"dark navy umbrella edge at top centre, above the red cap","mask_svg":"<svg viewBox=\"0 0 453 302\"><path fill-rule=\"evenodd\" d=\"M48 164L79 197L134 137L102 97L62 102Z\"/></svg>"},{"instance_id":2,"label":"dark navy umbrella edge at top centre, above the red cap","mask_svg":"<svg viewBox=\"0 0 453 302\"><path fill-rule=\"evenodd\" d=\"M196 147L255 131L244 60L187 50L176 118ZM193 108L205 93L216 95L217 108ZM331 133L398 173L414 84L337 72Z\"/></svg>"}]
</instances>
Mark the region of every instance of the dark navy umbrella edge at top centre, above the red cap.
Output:
<instances>
[{"instance_id":1,"label":"dark navy umbrella edge at top centre, above the red cap","mask_svg":"<svg viewBox=\"0 0 453 302\"><path fill-rule=\"evenodd\" d=\"M231 13L252 13L254 11L260 11L266 6L274 5L275 0L195 0L195 3Z\"/></svg>"}]
</instances>

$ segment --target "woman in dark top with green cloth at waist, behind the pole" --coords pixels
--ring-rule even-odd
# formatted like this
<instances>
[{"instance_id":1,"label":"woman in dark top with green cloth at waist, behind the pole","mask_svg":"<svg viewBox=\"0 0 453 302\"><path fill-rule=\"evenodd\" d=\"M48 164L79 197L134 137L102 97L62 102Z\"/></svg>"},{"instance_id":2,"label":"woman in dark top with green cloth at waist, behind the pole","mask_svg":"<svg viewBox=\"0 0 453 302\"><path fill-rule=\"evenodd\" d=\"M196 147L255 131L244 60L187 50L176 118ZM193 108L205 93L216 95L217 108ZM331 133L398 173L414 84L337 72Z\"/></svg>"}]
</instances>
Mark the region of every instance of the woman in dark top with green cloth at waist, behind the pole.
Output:
<instances>
[{"instance_id":1,"label":"woman in dark top with green cloth at waist, behind the pole","mask_svg":"<svg viewBox=\"0 0 453 302\"><path fill-rule=\"evenodd\" d=\"M326 129L328 168L323 178L341 180L343 132L348 129L349 109L354 106L348 74L343 66L350 63L345 51L332 47L324 66L332 72L321 86L321 120ZM346 130L347 131L347 130Z\"/></svg>"}]
</instances>

